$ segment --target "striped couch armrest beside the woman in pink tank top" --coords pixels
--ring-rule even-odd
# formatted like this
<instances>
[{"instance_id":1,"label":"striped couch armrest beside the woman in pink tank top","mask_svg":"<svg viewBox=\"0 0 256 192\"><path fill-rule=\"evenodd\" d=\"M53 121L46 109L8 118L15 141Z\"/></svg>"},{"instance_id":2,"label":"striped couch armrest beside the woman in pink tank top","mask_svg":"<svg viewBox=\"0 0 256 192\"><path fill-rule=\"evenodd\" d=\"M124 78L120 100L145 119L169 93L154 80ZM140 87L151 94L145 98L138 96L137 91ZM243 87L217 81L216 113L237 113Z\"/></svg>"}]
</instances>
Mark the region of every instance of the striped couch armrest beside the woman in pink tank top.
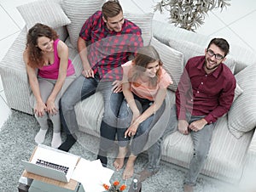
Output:
<instances>
[{"instance_id":1,"label":"striped couch armrest beside the woman in pink tank top","mask_svg":"<svg viewBox=\"0 0 256 192\"><path fill-rule=\"evenodd\" d=\"M25 47L26 28L23 28L0 62L0 75L9 107L32 114L32 108L29 104L31 89L22 56Z\"/></svg>"}]
</instances>

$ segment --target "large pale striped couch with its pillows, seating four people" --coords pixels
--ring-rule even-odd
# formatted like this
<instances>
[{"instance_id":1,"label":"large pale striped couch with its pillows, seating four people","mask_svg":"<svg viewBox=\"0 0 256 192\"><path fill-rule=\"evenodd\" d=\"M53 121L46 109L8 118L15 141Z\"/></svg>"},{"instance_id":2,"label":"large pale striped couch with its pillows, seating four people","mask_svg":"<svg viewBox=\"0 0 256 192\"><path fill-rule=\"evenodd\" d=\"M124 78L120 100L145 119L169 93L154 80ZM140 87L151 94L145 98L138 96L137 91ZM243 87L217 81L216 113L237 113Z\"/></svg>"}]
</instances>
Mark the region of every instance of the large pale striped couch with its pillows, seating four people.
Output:
<instances>
[{"instance_id":1,"label":"large pale striped couch with its pillows, seating four people","mask_svg":"<svg viewBox=\"0 0 256 192\"><path fill-rule=\"evenodd\" d=\"M76 39L84 20L100 9L103 2L102 0L63 0L60 3L56 0L54 6L52 1L42 1L18 8L26 20L26 26L0 63L3 88L10 108L32 114L29 105L31 89L22 59L27 29L35 22L43 22L54 27L61 39L67 43L69 57L73 60L76 74L79 75L82 68L76 50ZM166 70L175 81L174 85L168 89L166 110L160 119L160 121L167 121L170 108L175 102L174 91L184 64L190 57L204 54L204 48L207 47L210 38L152 20L153 14L150 13L128 14L124 10L124 14L126 18L142 28L145 45L149 43L159 51ZM245 165L255 161L256 156L256 135L254 134L256 104L253 104L256 99L256 77L254 77L256 57L245 48L232 44L230 48L227 65L234 71L239 86L236 88L236 99L231 110L217 122L212 136L212 146L202 173L225 181L237 181L241 178ZM79 102L76 105L79 130L98 137L102 112L100 93ZM156 123L153 134L158 133L158 126ZM163 161L189 167L189 161L193 155L193 144L189 136L175 132L166 137L162 151Z\"/></svg>"}]
</instances>

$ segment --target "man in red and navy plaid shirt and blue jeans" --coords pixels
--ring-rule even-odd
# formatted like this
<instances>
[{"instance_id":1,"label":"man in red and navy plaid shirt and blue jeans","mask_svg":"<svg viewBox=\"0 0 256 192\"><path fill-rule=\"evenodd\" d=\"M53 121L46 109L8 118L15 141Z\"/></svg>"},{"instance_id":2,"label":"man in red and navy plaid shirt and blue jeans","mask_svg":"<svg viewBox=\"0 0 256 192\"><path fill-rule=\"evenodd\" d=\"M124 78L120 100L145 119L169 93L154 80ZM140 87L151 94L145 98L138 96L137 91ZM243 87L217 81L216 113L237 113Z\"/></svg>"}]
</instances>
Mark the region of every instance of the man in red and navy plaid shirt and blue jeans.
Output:
<instances>
[{"instance_id":1,"label":"man in red and navy plaid shirt and blue jeans","mask_svg":"<svg viewBox=\"0 0 256 192\"><path fill-rule=\"evenodd\" d=\"M118 1L103 4L102 11L91 15L79 34L78 49L83 71L63 94L60 102L61 124L67 140L60 150L68 151L76 142L79 129L74 106L79 101L100 91L104 100L101 125L101 142L98 158L107 165L107 150L111 148L116 133L119 106L124 99L122 67L143 46L141 29L125 20ZM89 46L90 42L90 46Z\"/></svg>"}]
</instances>

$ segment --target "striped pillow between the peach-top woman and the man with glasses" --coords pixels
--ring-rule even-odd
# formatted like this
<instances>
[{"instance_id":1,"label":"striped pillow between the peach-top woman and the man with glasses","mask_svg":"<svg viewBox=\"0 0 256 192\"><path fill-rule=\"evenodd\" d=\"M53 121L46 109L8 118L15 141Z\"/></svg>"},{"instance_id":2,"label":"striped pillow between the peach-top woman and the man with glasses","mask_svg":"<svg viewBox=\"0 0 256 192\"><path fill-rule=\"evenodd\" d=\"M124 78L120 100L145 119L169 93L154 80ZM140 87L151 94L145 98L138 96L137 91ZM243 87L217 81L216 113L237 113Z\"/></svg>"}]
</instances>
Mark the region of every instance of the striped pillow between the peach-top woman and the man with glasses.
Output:
<instances>
[{"instance_id":1,"label":"striped pillow between the peach-top woman and the man with glasses","mask_svg":"<svg viewBox=\"0 0 256 192\"><path fill-rule=\"evenodd\" d=\"M176 91L177 83L183 73L183 54L166 44L158 41L154 37L150 43L160 54L160 59L164 63L164 68L172 76L173 84L169 86L172 91Z\"/></svg>"}]
</instances>

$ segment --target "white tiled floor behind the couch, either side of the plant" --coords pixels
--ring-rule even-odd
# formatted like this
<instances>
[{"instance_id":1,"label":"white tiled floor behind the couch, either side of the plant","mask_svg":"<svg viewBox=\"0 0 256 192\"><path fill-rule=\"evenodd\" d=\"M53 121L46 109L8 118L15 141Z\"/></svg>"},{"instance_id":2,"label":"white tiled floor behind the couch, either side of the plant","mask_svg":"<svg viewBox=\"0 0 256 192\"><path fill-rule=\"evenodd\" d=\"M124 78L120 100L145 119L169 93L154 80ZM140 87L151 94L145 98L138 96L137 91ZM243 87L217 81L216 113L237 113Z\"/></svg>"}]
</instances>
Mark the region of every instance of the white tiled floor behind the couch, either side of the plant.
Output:
<instances>
[{"instance_id":1,"label":"white tiled floor behind the couch, either side of the plant","mask_svg":"<svg viewBox=\"0 0 256 192\"><path fill-rule=\"evenodd\" d=\"M155 3L160 0L119 0L124 11L142 13L154 12ZM239 45L256 51L256 1L255 0L233 0L230 6L220 12L220 9L211 11L205 24L201 25L196 32L208 37L224 37L231 44ZM168 13L154 13L154 20L168 22Z\"/></svg>"}]
</instances>

